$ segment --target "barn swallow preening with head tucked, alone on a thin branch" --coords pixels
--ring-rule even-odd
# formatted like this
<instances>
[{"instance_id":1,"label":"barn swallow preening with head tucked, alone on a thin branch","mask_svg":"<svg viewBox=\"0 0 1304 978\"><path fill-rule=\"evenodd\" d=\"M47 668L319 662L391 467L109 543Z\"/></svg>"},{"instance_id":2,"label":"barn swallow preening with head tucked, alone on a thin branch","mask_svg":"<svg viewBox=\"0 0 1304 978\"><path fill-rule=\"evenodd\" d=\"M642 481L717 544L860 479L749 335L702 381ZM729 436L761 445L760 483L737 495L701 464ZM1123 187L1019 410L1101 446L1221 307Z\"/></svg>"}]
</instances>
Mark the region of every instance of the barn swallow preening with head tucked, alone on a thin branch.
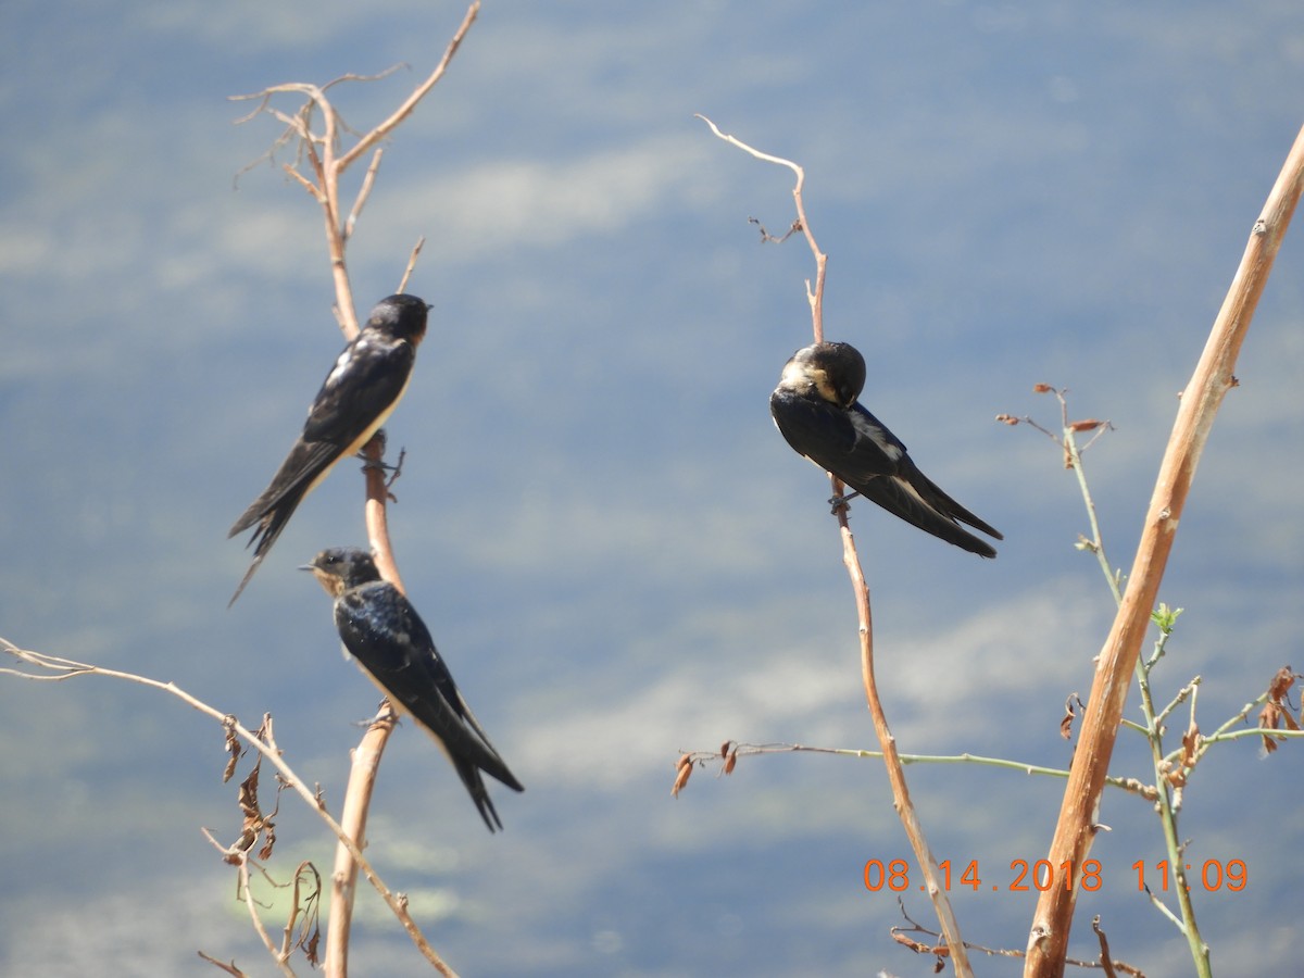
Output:
<instances>
[{"instance_id":1,"label":"barn swallow preening with head tucked, alone on a thin branch","mask_svg":"<svg viewBox=\"0 0 1304 978\"><path fill-rule=\"evenodd\" d=\"M979 557L996 550L960 528L1004 540L992 527L939 489L921 472L905 445L861 407L865 357L848 343L815 343L784 364L769 395L769 413L788 443L855 493L906 523Z\"/></svg>"}]
</instances>

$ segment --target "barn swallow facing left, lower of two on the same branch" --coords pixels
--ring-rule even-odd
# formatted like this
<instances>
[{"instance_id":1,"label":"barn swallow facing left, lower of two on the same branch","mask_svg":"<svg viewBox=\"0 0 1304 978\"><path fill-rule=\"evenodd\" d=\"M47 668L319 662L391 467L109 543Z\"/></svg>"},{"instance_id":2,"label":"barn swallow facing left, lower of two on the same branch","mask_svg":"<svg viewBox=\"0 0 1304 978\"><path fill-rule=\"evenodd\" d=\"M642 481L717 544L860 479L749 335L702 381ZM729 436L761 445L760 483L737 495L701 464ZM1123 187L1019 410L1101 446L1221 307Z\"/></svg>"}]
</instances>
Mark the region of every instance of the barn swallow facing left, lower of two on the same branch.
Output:
<instances>
[{"instance_id":1,"label":"barn swallow facing left, lower of two on the same branch","mask_svg":"<svg viewBox=\"0 0 1304 978\"><path fill-rule=\"evenodd\" d=\"M512 790L526 789L480 729L412 604L381 580L363 550L322 550L301 570L312 571L335 599L335 627L344 648L395 709L411 715L439 745L489 831L502 828L480 772Z\"/></svg>"}]
</instances>

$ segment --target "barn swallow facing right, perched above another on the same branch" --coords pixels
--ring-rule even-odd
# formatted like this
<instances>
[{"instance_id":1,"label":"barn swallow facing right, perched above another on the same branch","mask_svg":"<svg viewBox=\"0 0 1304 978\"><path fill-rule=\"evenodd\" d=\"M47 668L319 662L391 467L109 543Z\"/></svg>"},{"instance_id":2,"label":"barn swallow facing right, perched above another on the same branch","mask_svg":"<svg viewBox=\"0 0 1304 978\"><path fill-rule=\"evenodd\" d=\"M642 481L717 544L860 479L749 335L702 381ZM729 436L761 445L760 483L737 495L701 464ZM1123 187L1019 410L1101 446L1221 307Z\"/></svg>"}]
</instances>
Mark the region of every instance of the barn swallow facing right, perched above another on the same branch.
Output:
<instances>
[{"instance_id":1,"label":"barn swallow facing right, perched above another on the same branch","mask_svg":"<svg viewBox=\"0 0 1304 978\"><path fill-rule=\"evenodd\" d=\"M280 463L271 485L227 533L230 539L257 524L249 540L253 562L228 608L240 597L299 503L336 462L360 451L389 419L412 379L412 364L425 336L429 308L416 296L382 299L372 309L366 325L336 357L308 409L303 434Z\"/></svg>"}]
</instances>

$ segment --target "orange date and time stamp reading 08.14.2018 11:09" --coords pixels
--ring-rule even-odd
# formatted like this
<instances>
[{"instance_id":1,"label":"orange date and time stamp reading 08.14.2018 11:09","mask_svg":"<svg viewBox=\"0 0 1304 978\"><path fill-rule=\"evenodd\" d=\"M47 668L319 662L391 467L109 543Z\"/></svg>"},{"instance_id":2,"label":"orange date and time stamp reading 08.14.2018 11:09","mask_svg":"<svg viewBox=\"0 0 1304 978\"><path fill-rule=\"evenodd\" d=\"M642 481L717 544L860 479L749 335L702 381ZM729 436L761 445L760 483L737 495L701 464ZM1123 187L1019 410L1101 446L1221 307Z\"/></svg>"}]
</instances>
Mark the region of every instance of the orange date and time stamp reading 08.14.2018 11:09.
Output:
<instances>
[{"instance_id":1,"label":"orange date and time stamp reading 08.14.2018 11:09","mask_svg":"<svg viewBox=\"0 0 1304 978\"><path fill-rule=\"evenodd\" d=\"M1137 859L1132 863L1132 868L1137 874L1137 889L1149 889L1146 885L1148 868L1153 874L1150 878L1151 882L1161 892L1167 892L1172 879L1176 876L1176 874L1170 872L1167 859L1161 859L1153 867L1146 867L1144 859ZM1184 868L1187 874L1191 874L1197 867L1193 863L1185 863ZM940 870L939 883L941 884L941 889L949 892L952 885L951 859L939 862L938 870ZM1198 866L1198 870L1200 879L1196 883L1192 883L1189 876L1183 874L1187 879L1187 889L1191 889L1193 885L1202 885L1206 891L1228 889L1239 893L1249 883L1249 870L1245 867L1244 859L1230 859L1226 863L1221 859L1205 859ZM1056 867L1048 859L1038 859L1034 863L1029 863L1026 859L1015 859L1009 863L1009 871L1011 876L1005 880L1004 888L1016 893L1026 893L1030 889L1047 891L1055 885L1064 887L1065 889L1080 885L1084 891L1094 892L1104 883L1099 859L1084 861L1081 872L1074 872L1072 862L1064 862ZM977 859L969 861L960 875L956 876L955 884L957 887L969 887L973 891L977 891L983 884ZM992 889L1001 889L1000 883L991 883L990 885ZM910 865L905 859L892 859L887 863L882 859L870 859L865 863L865 888L875 893L880 889L889 889L895 893L909 889ZM918 888L923 889L925 885L921 883Z\"/></svg>"}]
</instances>

